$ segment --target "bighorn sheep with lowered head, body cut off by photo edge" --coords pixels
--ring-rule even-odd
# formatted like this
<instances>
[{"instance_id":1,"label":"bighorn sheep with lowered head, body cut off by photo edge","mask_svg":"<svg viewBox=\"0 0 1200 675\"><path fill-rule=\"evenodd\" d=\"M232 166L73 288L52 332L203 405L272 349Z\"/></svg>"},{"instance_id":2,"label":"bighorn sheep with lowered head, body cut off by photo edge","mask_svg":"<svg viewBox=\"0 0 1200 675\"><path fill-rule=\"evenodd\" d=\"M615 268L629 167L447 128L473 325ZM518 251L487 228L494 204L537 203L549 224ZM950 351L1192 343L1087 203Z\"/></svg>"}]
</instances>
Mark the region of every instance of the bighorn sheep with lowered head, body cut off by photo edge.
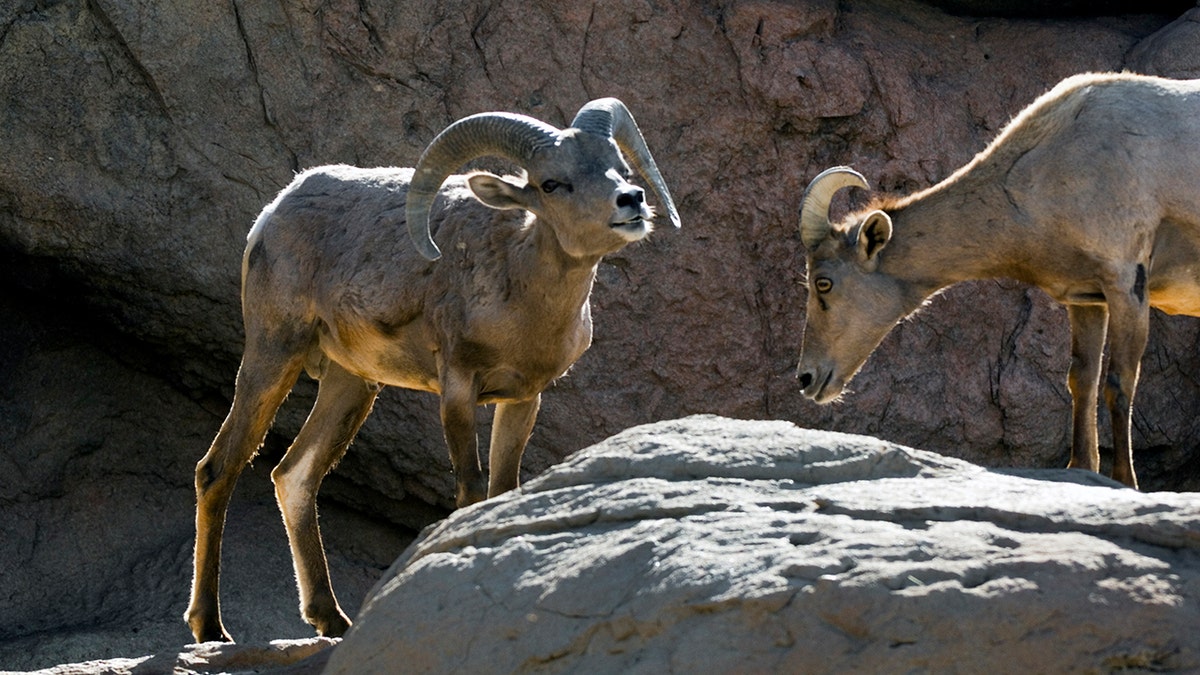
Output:
<instances>
[{"instance_id":1,"label":"bighorn sheep with lowered head, body cut off by photo edge","mask_svg":"<svg viewBox=\"0 0 1200 675\"><path fill-rule=\"evenodd\" d=\"M1015 279L1067 306L1070 467L1099 468L1108 339L1112 477L1135 488L1130 416L1150 307L1200 316L1200 80L1068 78L942 183L830 223L829 202L848 186L869 190L832 168L802 199L804 394L838 399L892 327L947 286Z\"/></svg>"}]
</instances>

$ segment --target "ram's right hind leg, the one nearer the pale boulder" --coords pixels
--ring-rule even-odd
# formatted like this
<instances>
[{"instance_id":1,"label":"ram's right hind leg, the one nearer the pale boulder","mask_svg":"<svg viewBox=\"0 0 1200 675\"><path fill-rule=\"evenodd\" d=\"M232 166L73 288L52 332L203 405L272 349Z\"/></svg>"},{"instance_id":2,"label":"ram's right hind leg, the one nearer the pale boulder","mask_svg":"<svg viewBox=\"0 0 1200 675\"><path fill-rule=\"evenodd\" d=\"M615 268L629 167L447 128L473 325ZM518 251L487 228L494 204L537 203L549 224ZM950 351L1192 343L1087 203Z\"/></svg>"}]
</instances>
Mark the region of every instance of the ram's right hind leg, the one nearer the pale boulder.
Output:
<instances>
[{"instance_id":1,"label":"ram's right hind leg, the one nearer the pale boulder","mask_svg":"<svg viewBox=\"0 0 1200 675\"><path fill-rule=\"evenodd\" d=\"M317 519L317 492L371 413L378 392L378 384L329 363L308 419L271 472L292 546L300 615L318 634L329 638L346 633L350 620L337 604L329 579L329 561Z\"/></svg>"}]
</instances>

